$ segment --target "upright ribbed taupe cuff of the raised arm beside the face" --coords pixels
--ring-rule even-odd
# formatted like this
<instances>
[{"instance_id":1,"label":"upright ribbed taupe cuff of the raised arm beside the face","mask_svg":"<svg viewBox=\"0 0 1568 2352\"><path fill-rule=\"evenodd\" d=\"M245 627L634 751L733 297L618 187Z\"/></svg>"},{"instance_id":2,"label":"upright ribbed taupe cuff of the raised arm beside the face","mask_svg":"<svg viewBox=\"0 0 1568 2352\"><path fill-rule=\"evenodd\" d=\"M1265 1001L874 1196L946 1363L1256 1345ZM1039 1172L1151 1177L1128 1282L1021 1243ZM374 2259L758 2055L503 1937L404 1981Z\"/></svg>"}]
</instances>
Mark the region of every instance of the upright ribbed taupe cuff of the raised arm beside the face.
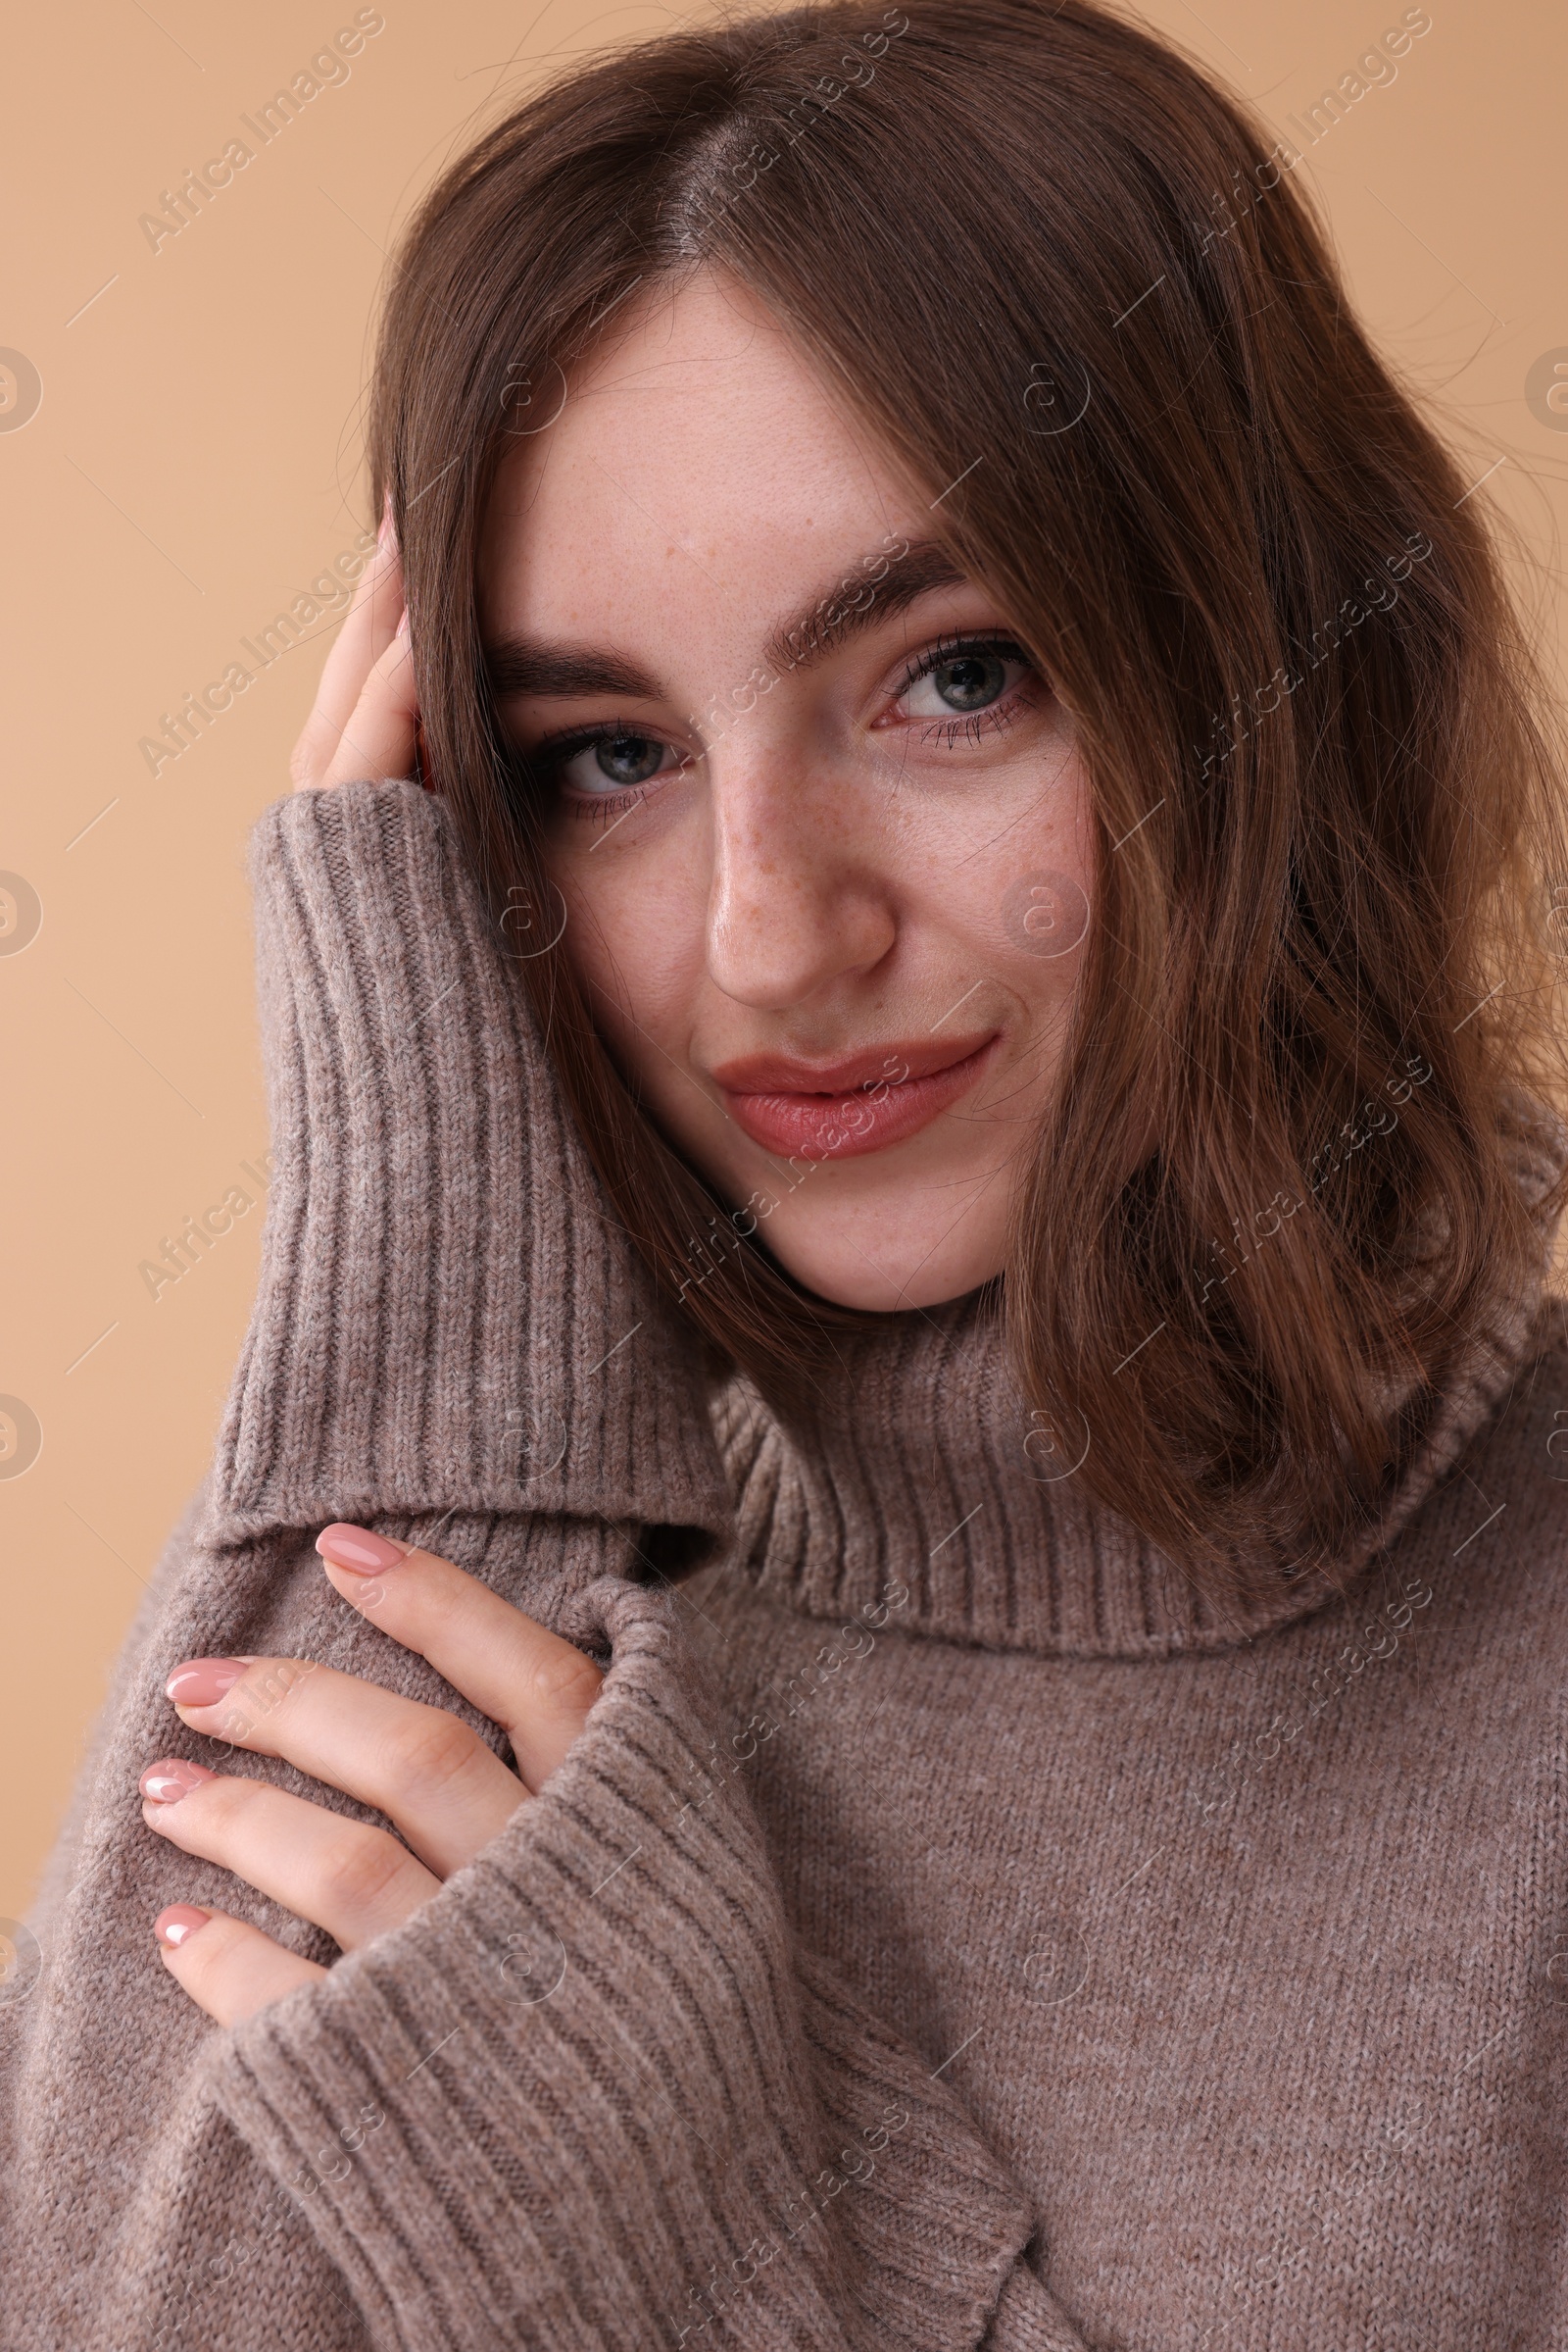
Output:
<instances>
[{"instance_id":1,"label":"upright ribbed taupe cuff of the raised arm beside the face","mask_svg":"<svg viewBox=\"0 0 1568 2352\"><path fill-rule=\"evenodd\" d=\"M548 1510L722 1531L701 1374L616 1223L437 795L252 835L275 1181L223 1534Z\"/></svg>"}]
</instances>

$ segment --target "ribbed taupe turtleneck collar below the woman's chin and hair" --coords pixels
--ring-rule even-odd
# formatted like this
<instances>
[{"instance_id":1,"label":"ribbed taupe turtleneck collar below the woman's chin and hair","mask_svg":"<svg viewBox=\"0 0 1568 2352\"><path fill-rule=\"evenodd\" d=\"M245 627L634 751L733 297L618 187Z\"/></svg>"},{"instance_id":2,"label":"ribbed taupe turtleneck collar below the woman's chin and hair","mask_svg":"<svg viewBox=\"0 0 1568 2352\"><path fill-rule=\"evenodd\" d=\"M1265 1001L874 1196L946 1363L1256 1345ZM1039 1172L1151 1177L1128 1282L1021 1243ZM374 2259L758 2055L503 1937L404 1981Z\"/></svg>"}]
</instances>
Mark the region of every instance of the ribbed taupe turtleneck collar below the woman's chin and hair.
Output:
<instances>
[{"instance_id":1,"label":"ribbed taupe turtleneck collar below the woman's chin and hair","mask_svg":"<svg viewBox=\"0 0 1568 2352\"><path fill-rule=\"evenodd\" d=\"M1568 1157L1568 1134L1533 1105L1516 1136L1530 1209ZM1418 1451L1335 1573L1288 1559L1251 1604L1208 1599L1077 1475L1037 1461L1030 1414L985 1294L891 1315L849 1336L811 1416L785 1421L736 1376L715 1430L738 1510L738 1564L806 1616L849 1618L903 1583L905 1632L1053 1658L1166 1658L1229 1649L1319 1609L1413 1517L1495 1411L1530 1350L1554 1218L1537 1214L1542 1258L1497 1303L1434 1395ZM872 1623L882 1623L872 1616Z\"/></svg>"}]
</instances>

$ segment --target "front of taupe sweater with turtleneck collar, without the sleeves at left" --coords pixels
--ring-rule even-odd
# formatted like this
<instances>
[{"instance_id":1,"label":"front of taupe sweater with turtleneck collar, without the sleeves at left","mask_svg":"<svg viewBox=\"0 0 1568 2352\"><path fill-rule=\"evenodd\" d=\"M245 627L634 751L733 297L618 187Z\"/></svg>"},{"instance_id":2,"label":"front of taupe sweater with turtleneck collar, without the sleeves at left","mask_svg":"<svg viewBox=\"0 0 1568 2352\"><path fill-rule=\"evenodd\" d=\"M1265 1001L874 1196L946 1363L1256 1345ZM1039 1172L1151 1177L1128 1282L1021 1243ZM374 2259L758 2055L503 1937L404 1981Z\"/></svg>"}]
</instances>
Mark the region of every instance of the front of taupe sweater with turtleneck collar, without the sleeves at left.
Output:
<instances>
[{"instance_id":1,"label":"front of taupe sweater with turtleneck collar, without the sleeves at left","mask_svg":"<svg viewBox=\"0 0 1568 2352\"><path fill-rule=\"evenodd\" d=\"M1469 1336L1342 1597L1251 1611L1034 1475L978 1301L715 1423L691 1639L785 1907L1034 2204L990 2352L1568 2347L1563 1301Z\"/></svg>"}]
</instances>

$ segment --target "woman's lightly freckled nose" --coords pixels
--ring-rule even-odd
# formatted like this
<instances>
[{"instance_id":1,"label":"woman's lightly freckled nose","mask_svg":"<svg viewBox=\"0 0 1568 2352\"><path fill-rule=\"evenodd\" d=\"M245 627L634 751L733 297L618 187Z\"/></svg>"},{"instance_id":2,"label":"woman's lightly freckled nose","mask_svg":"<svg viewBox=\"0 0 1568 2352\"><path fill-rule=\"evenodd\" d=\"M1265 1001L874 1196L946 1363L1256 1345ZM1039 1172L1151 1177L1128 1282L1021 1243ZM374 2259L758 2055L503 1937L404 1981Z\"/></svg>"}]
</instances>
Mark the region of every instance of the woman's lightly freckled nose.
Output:
<instances>
[{"instance_id":1,"label":"woman's lightly freckled nose","mask_svg":"<svg viewBox=\"0 0 1568 2352\"><path fill-rule=\"evenodd\" d=\"M710 760L712 981L741 1004L783 1011L875 971L898 936L896 877L856 779L752 746Z\"/></svg>"}]
</instances>

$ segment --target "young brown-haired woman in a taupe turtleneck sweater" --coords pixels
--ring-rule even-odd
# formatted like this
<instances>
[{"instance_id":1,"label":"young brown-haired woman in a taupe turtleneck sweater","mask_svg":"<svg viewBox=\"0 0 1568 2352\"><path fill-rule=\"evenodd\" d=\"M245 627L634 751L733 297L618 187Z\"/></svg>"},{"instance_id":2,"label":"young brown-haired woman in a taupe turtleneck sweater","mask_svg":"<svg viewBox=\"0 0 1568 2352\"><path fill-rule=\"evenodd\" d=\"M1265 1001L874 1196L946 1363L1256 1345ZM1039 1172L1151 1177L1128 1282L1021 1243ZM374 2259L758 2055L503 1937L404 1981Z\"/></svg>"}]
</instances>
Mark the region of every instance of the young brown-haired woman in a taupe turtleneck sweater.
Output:
<instances>
[{"instance_id":1,"label":"young brown-haired woman in a taupe turtleneck sweater","mask_svg":"<svg viewBox=\"0 0 1568 2352\"><path fill-rule=\"evenodd\" d=\"M832 0L425 202L7 2343L1568 2343L1563 779L1295 165Z\"/></svg>"}]
</instances>

